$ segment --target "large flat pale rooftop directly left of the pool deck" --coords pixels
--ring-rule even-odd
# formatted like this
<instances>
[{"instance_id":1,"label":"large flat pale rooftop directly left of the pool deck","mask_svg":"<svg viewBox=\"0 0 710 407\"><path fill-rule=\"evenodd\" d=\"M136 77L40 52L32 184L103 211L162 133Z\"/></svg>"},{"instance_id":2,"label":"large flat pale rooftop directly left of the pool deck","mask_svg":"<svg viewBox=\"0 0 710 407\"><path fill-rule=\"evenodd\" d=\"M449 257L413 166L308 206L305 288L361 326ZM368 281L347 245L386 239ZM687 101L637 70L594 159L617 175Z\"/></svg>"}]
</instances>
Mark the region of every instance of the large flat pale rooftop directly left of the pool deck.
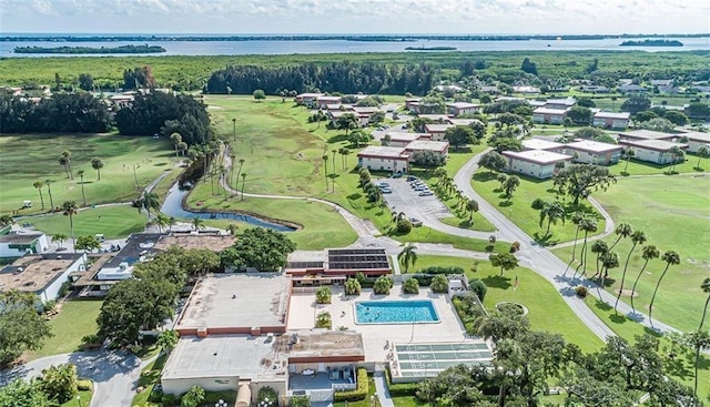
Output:
<instances>
[{"instance_id":1,"label":"large flat pale rooftop directly left of the pool deck","mask_svg":"<svg viewBox=\"0 0 710 407\"><path fill-rule=\"evenodd\" d=\"M285 326L288 285L282 273L211 274L195 285L175 328Z\"/></svg>"}]
</instances>

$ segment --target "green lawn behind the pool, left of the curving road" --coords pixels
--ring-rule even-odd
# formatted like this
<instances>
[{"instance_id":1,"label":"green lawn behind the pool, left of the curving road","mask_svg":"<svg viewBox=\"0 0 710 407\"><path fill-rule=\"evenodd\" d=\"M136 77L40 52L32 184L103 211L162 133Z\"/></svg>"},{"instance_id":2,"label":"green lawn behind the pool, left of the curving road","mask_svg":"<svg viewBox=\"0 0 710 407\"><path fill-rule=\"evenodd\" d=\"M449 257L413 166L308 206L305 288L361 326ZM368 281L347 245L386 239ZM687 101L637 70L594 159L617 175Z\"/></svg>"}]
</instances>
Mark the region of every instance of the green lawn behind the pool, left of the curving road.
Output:
<instances>
[{"instance_id":1,"label":"green lawn behind the pool, left of the curving road","mask_svg":"<svg viewBox=\"0 0 710 407\"><path fill-rule=\"evenodd\" d=\"M470 258L419 255L414 269L428 266L463 267L469 278L486 283L488 292L484 305L487 309L494 309L501 301L520 303L530 311L528 318L532 329L560 334L585 352L594 352L602 346L601 339L577 318L555 287L535 272L517 267L500 277L500 268L493 267L487 261L478 261L477 271L474 272L475 262ZM516 275L519 282L517 289L514 287Z\"/></svg>"}]
</instances>

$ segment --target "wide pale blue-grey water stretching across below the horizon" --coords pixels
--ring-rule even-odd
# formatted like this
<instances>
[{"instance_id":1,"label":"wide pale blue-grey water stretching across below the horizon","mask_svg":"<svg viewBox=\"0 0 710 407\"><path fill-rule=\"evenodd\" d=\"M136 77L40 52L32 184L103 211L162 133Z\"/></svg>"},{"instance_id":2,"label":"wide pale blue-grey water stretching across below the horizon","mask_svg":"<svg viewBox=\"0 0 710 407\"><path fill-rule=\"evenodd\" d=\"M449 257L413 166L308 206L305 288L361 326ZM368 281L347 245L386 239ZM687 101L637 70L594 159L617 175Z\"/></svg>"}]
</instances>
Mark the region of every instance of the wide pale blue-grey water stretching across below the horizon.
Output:
<instances>
[{"instance_id":1,"label":"wide pale blue-grey water stretching across below the horizon","mask_svg":"<svg viewBox=\"0 0 710 407\"><path fill-rule=\"evenodd\" d=\"M29 34L28 34L29 35ZM355 53L355 52L415 52L405 51L407 47L454 47L457 51L579 51L613 50L648 52L659 51L698 51L710 50L710 37L703 38L667 38L678 40L683 47L620 47L628 39L601 40L527 40L527 41L445 41L416 40L405 42L372 42L347 40L313 41L139 41L140 44L162 47L168 52L148 55L247 55L247 54L292 54L292 53ZM643 40L643 38L635 39ZM0 41L0 58L17 57L78 57L72 54L18 54L16 47L120 47L139 43L136 41L101 41L101 42L55 42L55 41ZM437 52L437 51L432 51ZM141 54L145 55L145 54ZM120 54L91 54L81 57L120 57ZM123 55L125 57L125 55ZM139 57L136 54L136 57Z\"/></svg>"}]
</instances>

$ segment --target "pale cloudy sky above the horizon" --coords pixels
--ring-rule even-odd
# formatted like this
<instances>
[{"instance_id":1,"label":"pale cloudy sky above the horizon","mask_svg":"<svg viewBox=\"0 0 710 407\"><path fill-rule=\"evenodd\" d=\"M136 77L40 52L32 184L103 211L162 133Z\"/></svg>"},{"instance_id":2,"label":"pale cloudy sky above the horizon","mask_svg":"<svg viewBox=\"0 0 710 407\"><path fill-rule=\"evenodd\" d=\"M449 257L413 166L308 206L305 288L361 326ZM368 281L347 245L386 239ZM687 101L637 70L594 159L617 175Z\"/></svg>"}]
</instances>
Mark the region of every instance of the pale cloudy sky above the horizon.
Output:
<instances>
[{"instance_id":1,"label":"pale cloudy sky above the horizon","mask_svg":"<svg viewBox=\"0 0 710 407\"><path fill-rule=\"evenodd\" d=\"M697 33L707 0L0 0L0 32Z\"/></svg>"}]
</instances>

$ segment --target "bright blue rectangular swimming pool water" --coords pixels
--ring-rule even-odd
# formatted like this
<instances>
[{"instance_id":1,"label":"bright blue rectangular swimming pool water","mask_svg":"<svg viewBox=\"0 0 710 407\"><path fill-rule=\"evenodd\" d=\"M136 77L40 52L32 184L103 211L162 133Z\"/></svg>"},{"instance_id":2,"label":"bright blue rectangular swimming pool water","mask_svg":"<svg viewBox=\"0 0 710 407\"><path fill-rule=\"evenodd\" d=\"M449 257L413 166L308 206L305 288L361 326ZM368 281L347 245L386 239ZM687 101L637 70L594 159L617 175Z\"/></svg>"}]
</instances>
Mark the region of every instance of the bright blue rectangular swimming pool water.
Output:
<instances>
[{"instance_id":1,"label":"bright blue rectangular swimming pool water","mask_svg":"<svg viewBox=\"0 0 710 407\"><path fill-rule=\"evenodd\" d=\"M429 299L355 303L356 324L433 324L439 320L434 303Z\"/></svg>"}]
</instances>

